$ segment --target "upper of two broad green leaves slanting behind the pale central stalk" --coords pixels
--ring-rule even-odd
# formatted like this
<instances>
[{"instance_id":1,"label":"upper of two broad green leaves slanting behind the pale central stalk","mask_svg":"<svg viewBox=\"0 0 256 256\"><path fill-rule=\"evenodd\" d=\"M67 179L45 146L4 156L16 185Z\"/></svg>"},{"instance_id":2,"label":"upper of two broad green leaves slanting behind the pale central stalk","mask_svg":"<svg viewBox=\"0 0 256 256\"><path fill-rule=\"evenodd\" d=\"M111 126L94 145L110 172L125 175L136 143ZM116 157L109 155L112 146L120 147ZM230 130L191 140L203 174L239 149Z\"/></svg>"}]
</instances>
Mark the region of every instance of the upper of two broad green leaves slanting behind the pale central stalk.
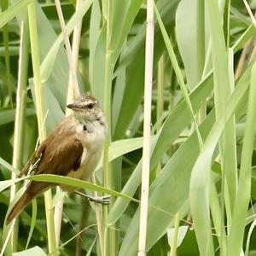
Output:
<instances>
[{"instance_id":1,"label":"upper of two broad green leaves slanting behind the pale central stalk","mask_svg":"<svg viewBox=\"0 0 256 256\"><path fill-rule=\"evenodd\" d=\"M199 84L194 91L191 92L190 98L195 109L195 112L199 110L201 107L201 102L207 99L207 96L210 95L212 91L212 74L207 77L201 84ZM180 102L175 109L173 109L172 113L166 118L166 121L162 125L160 132L151 144L151 167L154 168L156 166L162 155L166 152L166 150L170 147L170 145L175 141L178 135L183 131L186 125L189 125L191 121L191 115L189 113L189 109L187 108L186 102ZM176 125L173 125L173 124ZM142 162L140 161L134 172L127 183L125 183L124 189L122 192L128 195L134 195L139 184L141 183L141 168ZM125 208L128 206L129 202L122 201L121 199L117 199L109 213L109 222L112 224L117 219L122 216L123 212L125 212Z\"/></svg>"}]
</instances>

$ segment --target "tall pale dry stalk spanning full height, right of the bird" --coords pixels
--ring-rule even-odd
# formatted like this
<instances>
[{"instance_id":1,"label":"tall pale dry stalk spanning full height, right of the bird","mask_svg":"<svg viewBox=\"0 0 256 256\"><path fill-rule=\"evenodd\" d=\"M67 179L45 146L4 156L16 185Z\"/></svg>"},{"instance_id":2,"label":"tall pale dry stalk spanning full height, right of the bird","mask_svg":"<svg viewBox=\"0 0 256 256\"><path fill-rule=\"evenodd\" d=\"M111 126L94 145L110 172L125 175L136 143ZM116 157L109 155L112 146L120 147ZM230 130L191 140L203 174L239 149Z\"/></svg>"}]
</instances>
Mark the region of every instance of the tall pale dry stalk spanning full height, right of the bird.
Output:
<instances>
[{"instance_id":1,"label":"tall pale dry stalk spanning full height, right of the bird","mask_svg":"<svg viewBox=\"0 0 256 256\"><path fill-rule=\"evenodd\" d=\"M138 255L146 255L148 186L150 172L151 97L154 56L154 1L147 2L147 33L144 81L143 173Z\"/></svg>"}]
</instances>

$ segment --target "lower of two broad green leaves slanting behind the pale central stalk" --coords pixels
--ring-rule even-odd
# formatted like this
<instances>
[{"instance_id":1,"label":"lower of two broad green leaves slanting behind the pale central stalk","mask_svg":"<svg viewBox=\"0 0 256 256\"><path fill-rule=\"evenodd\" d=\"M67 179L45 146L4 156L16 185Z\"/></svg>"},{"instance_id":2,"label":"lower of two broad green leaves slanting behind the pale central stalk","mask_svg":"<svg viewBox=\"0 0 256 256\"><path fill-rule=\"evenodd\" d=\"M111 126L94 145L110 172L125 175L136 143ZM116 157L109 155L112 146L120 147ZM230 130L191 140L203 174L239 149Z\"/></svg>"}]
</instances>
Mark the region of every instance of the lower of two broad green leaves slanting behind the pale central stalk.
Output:
<instances>
[{"instance_id":1,"label":"lower of two broad green leaves slanting behind the pale central stalk","mask_svg":"<svg viewBox=\"0 0 256 256\"><path fill-rule=\"evenodd\" d=\"M211 112L200 126L203 138L207 137L213 123L214 112ZM175 126L174 124L177 125L172 122L173 126ZM154 246L154 243L166 233L168 228L172 227L177 212L179 212L180 218L184 218L188 214L190 173L199 153L196 132L193 132L166 162L150 185L148 208L148 234L150 236L147 239L147 250ZM171 185L172 193L170 193ZM131 224L125 232L120 255L130 256L137 253L138 213L137 211L134 214Z\"/></svg>"}]
</instances>

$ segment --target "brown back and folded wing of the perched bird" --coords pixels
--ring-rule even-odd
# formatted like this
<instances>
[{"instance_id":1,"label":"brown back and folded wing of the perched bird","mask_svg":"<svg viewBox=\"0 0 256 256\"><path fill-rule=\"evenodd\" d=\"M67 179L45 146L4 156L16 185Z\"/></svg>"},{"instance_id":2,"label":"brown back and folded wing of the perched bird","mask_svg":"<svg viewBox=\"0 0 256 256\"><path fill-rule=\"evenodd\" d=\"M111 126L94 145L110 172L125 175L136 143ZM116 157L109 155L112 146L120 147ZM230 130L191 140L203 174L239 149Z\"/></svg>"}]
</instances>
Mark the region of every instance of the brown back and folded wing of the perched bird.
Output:
<instances>
[{"instance_id":1,"label":"brown back and folded wing of the perched bird","mask_svg":"<svg viewBox=\"0 0 256 256\"><path fill-rule=\"evenodd\" d=\"M67 175L79 168L82 154L83 145L76 137L72 118L67 117L32 154L22 173L27 173L29 167L38 160L36 174Z\"/></svg>"}]
</instances>

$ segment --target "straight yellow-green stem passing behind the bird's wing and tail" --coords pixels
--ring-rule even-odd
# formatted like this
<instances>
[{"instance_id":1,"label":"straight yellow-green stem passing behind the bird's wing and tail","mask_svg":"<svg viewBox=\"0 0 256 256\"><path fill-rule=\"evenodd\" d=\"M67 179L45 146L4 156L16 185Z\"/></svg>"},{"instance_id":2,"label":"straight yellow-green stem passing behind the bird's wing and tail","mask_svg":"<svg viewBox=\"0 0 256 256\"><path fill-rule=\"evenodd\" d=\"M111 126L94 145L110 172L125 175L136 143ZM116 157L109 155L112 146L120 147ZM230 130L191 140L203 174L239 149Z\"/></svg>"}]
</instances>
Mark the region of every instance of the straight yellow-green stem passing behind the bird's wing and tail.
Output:
<instances>
[{"instance_id":1,"label":"straight yellow-green stem passing behind the bird's wing and tail","mask_svg":"<svg viewBox=\"0 0 256 256\"><path fill-rule=\"evenodd\" d=\"M38 28L37 28L37 15L36 15L36 4L32 1L28 5L28 19L29 19L29 32L32 52L32 69L34 74L34 85L35 85L35 105L38 117L38 131L40 142L43 142L46 138L46 131L44 127L44 102L43 102L43 90L41 84L40 75L40 61L39 61L39 50L38 50ZM54 223L54 207L52 205L51 190L49 189L44 193L44 203L46 212L47 222L47 234L48 234L48 246L49 253L55 252L55 223ZM55 254L55 253L53 253Z\"/></svg>"}]
</instances>

